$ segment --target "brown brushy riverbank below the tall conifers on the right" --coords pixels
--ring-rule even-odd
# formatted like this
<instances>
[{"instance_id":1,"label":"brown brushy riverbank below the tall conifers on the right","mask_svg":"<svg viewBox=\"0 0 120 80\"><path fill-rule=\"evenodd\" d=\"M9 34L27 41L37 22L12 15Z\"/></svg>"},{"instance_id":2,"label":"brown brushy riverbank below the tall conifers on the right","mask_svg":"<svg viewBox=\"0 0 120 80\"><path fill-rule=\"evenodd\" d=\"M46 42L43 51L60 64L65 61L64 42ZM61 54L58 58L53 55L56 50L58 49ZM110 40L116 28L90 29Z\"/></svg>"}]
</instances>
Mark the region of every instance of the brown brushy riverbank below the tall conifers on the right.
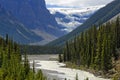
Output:
<instances>
[{"instance_id":1,"label":"brown brushy riverbank below the tall conifers on the right","mask_svg":"<svg viewBox=\"0 0 120 80\"><path fill-rule=\"evenodd\" d=\"M108 78L108 79L117 78L115 80L120 80L120 59L113 63L113 68L108 72L94 70L92 68L87 68L84 66L78 66L70 62L66 62L65 64L67 68L84 70L84 71L90 72L91 74L94 74L96 77Z\"/></svg>"}]
</instances>

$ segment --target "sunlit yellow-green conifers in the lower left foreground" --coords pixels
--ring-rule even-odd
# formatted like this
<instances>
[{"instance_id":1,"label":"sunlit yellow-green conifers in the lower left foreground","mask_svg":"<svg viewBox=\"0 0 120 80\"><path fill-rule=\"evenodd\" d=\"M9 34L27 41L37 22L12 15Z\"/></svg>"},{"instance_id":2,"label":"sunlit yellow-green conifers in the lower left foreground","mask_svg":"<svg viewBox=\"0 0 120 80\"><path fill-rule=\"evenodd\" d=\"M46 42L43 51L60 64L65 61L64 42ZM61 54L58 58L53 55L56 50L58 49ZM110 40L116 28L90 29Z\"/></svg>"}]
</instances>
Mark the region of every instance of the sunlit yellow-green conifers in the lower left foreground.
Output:
<instances>
[{"instance_id":1,"label":"sunlit yellow-green conifers in the lower left foreground","mask_svg":"<svg viewBox=\"0 0 120 80\"><path fill-rule=\"evenodd\" d=\"M46 80L42 71L30 69L27 55L21 59L19 45L6 35L6 40L0 38L0 80Z\"/></svg>"}]
</instances>

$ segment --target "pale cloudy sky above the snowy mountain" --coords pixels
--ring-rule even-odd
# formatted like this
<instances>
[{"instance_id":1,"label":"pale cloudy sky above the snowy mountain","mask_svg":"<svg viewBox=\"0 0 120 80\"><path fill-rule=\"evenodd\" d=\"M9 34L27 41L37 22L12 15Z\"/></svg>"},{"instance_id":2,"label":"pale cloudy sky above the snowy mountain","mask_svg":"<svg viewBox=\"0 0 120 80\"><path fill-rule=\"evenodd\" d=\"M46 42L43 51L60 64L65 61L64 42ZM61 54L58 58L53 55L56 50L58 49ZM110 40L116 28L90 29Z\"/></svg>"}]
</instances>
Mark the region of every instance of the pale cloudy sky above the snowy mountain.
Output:
<instances>
[{"instance_id":1,"label":"pale cloudy sky above the snowy mountain","mask_svg":"<svg viewBox=\"0 0 120 80\"><path fill-rule=\"evenodd\" d=\"M47 7L88 7L105 5L113 0L45 0Z\"/></svg>"}]
</instances>

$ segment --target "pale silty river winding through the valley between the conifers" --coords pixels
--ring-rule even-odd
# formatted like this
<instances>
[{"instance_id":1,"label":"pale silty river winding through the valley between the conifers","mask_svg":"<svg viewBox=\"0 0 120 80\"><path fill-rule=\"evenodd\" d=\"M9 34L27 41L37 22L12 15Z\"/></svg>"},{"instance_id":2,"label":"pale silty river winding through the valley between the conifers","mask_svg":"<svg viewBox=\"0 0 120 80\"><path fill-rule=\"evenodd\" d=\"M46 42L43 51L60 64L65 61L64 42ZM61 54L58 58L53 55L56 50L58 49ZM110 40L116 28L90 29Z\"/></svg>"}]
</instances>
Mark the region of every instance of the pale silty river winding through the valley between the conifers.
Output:
<instances>
[{"instance_id":1,"label":"pale silty river winding through the valley between the conifers","mask_svg":"<svg viewBox=\"0 0 120 80\"><path fill-rule=\"evenodd\" d=\"M94 76L93 74L78 70L78 69L71 69L65 68L64 63L59 63L57 60L58 55L28 55L28 59L31 64L33 60L35 61L35 68L36 70L42 69L43 73L47 76L47 80L75 80L76 74L78 75L79 80L85 80L89 78L89 80L110 80L110 79L103 79Z\"/></svg>"}]
</instances>

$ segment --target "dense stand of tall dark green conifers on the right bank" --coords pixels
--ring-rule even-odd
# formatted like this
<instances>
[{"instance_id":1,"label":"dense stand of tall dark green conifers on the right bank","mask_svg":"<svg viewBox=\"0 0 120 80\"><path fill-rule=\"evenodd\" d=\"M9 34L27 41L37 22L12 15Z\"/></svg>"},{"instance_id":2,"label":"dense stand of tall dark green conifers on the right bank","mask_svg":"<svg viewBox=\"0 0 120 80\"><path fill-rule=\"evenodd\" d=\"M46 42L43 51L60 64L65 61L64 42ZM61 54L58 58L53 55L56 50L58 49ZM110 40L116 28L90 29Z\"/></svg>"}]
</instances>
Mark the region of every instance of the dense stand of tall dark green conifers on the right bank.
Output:
<instances>
[{"instance_id":1,"label":"dense stand of tall dark green conifers on the right bank","mask_svg":"<svg viewBox=\"0 0 120 80\"><path fill-rule=\"evenodd\" d=\"M113 68L112 62L118 60L120 53L120 19L105 25L91 27L67 41L60 61L71 62L78 66L108 72Z\"/></svg>"}]
</instances>

